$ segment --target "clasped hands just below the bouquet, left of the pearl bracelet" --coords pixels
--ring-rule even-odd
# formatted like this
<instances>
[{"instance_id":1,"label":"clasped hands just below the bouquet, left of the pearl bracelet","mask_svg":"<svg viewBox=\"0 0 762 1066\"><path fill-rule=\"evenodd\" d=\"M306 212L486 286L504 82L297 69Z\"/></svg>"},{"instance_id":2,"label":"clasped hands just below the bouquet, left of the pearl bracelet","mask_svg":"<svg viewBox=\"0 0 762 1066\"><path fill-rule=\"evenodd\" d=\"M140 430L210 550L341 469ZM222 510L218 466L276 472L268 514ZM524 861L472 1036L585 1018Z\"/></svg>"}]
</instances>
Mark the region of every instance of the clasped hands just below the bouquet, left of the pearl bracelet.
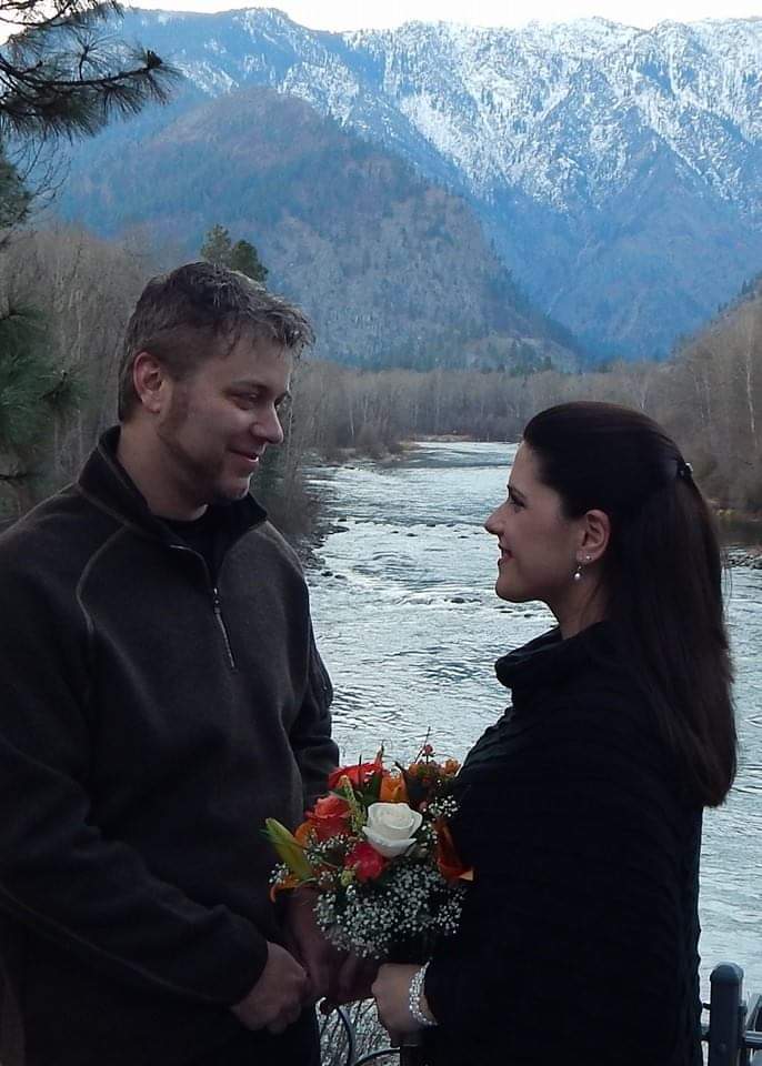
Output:
<instances>
[{"instance_id":1,"label":"clasped hands just below the bouquet, left of the pearl bracelet","mask_svg":"<svg viewBox=\"0 0 762 1066\"><path fill-rule=\"evenodd\" d=\"M259 980L232 1007L247 1028L279 1034L318 999L324 998L331 1009L370 996L378 963L347 955L329 944L315 923L313 904L313 889L289 893L283 916L287 947L268 943L268 961Z\"/></svg>"}]
</instances>

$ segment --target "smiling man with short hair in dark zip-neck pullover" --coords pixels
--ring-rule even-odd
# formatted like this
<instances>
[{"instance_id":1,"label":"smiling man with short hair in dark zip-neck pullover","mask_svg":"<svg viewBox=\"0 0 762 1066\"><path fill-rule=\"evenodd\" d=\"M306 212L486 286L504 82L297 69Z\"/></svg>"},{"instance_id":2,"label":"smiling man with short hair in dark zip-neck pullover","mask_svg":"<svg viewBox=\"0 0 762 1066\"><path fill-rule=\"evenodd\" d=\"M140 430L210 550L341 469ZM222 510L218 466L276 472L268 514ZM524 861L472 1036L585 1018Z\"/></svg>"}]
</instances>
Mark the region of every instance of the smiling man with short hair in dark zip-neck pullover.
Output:
<instances>
[{"instance_id":1,"label":"smiling man with short hair in dark zip-neck pullover","mask_svg":"<svg viewBox=\"0 0 762 1066\"><path fill-rule=\"evenodd\" d=\"M249 495L310 338L242 274L153 279L120 425L0 536L3 1066L318 1060L327 954L262 827L325 788L331 688Z\"/></svg>"}]
</instances>

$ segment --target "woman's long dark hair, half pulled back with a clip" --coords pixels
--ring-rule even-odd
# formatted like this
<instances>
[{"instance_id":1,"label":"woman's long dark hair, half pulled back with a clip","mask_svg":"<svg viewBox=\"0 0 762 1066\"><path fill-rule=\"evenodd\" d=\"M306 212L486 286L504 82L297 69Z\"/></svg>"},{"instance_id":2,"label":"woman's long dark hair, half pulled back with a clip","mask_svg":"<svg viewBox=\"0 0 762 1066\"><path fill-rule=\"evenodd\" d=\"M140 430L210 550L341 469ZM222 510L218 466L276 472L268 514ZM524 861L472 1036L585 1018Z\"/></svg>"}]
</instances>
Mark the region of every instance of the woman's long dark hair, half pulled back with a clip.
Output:
<instances>
[{"instance_id":1,"label":"woman's long dark hair, half pulled back with a clip","mask_svg":"<svg viewBox=\"0 0 762 1066\"><path fill-rule=\"evenodd\" d=\"M706 501L678 445L639 411L564 403L524 430L567 517L604 511L606 617L692 800L722 803L736 737L722 557Z\"/></svg>"}]
</instances>

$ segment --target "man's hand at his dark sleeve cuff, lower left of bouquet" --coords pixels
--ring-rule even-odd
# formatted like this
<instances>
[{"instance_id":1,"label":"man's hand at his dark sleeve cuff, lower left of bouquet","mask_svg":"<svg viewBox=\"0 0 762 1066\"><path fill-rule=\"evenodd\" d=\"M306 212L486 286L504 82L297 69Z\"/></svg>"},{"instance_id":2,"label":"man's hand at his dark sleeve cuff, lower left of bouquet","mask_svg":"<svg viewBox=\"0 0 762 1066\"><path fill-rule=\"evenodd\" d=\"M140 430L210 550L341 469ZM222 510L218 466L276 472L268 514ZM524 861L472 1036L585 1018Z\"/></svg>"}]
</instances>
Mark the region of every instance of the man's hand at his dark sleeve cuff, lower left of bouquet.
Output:
<instances>
[{"instance_id":1,"label":"man's hand at his dark sleeve cuff, lower left of bouquet","mask_svg":"<svg viewBox=\"0 0 762 1066\"><path fill-rule=\"evenodd\" d=\"M230 1009L248 1029L282 1033L310 1000L310 982L292 955L268 942L268 961L249 995Z\"/></svg>"}]
</instances>

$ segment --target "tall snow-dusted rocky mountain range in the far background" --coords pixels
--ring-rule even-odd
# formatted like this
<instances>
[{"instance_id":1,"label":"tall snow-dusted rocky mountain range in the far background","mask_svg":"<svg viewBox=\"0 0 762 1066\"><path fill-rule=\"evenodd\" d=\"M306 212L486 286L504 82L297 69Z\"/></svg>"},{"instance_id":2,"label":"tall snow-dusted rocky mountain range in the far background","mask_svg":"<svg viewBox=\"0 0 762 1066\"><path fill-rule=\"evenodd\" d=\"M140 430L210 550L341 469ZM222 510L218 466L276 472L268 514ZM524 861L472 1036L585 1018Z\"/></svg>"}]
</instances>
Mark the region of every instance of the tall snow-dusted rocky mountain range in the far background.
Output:
<instances>
[{"instance_id":1,"label":"tall snow-dusted rocky mountain range in the far background","mask_svg":"<svg viewBox=\"0 0 762 1066\"><path fill-rule=\"evenodd\" d=\"M327 33L129 11L220 97L301 98L464 197L515 279L609 353L665 354L762 268L762 19Z\"/></svg>"}]
</instances>

